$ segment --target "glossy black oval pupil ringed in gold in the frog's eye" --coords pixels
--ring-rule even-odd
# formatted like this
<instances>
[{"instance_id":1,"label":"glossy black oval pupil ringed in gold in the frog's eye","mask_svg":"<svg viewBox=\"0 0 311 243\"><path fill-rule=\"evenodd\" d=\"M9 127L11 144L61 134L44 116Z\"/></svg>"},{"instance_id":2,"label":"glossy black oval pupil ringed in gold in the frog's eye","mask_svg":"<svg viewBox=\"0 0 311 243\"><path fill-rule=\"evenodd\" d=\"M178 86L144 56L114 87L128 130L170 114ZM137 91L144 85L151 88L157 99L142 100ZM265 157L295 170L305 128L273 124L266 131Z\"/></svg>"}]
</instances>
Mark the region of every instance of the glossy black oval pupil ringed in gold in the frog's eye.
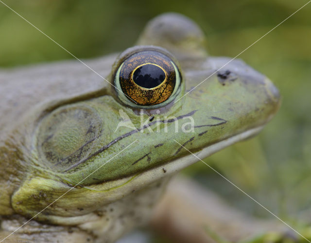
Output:
<instances>
[{"instance_id":1,"label":"glossy black oval pupil ringed in gold in the frog's eye","mask_svg":"<svg viewBox=\"0 0 311 243\"><path fill-rule=\"evenodd\" d=\"M135 70L134 82L140 87L151 89L161 84L165 79L165 73L161 68L153 64L145 64Z\"/></svg>"}]
</instances>

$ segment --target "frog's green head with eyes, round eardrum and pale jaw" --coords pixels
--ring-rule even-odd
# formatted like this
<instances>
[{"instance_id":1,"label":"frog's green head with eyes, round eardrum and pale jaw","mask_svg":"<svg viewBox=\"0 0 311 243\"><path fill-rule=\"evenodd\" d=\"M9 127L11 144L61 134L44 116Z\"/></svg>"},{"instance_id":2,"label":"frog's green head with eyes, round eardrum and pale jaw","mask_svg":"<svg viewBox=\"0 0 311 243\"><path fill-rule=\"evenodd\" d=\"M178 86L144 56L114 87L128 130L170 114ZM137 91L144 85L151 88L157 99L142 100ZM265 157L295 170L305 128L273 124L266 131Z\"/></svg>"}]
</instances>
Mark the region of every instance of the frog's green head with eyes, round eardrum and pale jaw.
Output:
<instances>
[{"instance_id":1,"label":"frog's green head with eyes, round eardrum and pale jaw","mask_svg":"<svg viewBox=\"0 0 311 243\"><path fill-rule=\"evenodd\" d=\"M204 158L257 134L278 109L276 87L205 43L190 19L161 15L115 60L111 85L29 112L13 209L34 216L58 198L36 219L77 220L196 162L181 145Z\"/></svg>"}]
</instances>

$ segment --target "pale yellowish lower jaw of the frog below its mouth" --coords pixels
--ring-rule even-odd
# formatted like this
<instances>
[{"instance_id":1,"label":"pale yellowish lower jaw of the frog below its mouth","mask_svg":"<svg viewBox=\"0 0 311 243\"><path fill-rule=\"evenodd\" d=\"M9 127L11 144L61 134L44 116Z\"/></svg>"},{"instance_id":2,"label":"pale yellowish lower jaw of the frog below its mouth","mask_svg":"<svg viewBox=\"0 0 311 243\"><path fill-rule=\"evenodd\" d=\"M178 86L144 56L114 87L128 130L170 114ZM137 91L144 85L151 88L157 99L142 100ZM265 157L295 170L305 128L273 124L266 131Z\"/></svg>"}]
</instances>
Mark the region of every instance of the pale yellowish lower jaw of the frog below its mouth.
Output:
<instances>
[{"instance_id":1,"label":"pale yellowish lower jaw of the frog below its mouth","mask_svg":"<svg viewBox=\"0 0 311 243\"><path fill-rule=\"evenodd\" d=\"M76 226L86 222L96 222L98 216L94 211L105 209L106 206L104 205L108 205L108 207L109 205L114 205L114 202L120 200L125 195L136 194L136 192L139 195L140 190L143 188L154 188L154 183L157 183L156 188L159 188L160 184L162 186L166 184L167 180L165 179L170 178L181 169L188 167L231 144L255 136L263 127L264 126L252 128L241 134L215 143L201 151L194 152L193 154L187 151L188 155L173 159L165 165L154 167L143 173L138 173L120 180L74 188L72 192L69 191L72 189L71 186L66 186L63 183L55 182L54 180L35 177L27 180L14 194L12 197L13 208L15 212L19 212L28 217L35 215L35 220L49 222L56 225ZM175 142L180 145L177 141ZM160 184L158 184L158 182L160 182ZM38 185L40 185L40 187L38 187ZM52 190L51 193L50 188L57 189ZM55 197L55 202L53 203L52 210L47 208L45 209L45 213L37 214L40 208L48 207L49 202L33 196L39 195L39 197L42 197L40 195L44 195L45 190L47 190L47 195L45 195L45 197L53 196ZM156 195L159 193L161 194L161 191L154 191ZM62 197L63 194L67 194L66 197ZM85 198L85 196L83 195L87 195L89 200L84 200L83 198ZM33 197L33 199L29 200L30 197ZM83 209L83 211L80 209Z\"/></svg>"}]
</instances>

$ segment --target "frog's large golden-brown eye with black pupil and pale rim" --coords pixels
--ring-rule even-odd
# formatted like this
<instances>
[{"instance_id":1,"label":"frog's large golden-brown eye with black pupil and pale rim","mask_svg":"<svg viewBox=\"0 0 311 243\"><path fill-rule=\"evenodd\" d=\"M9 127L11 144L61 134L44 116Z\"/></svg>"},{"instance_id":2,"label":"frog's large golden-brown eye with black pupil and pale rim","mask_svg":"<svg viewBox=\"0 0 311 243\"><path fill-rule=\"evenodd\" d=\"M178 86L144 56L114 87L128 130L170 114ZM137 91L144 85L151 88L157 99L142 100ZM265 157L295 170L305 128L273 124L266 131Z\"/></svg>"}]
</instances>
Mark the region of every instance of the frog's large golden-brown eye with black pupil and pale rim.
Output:
<instances>
[{"instance_id":1,"label":"frog's large golden-brown eye with black pupil and pale rim","mask_svg":"<svg viewBox=\"0 0 311 243\"><path fill-rule=\"evenodd\" d=\"M157 50L127 57L115 73L120 100L130 106L155 108L171 102L180 90L181 76L174 61Z\"/></svg>"}]
</instances>

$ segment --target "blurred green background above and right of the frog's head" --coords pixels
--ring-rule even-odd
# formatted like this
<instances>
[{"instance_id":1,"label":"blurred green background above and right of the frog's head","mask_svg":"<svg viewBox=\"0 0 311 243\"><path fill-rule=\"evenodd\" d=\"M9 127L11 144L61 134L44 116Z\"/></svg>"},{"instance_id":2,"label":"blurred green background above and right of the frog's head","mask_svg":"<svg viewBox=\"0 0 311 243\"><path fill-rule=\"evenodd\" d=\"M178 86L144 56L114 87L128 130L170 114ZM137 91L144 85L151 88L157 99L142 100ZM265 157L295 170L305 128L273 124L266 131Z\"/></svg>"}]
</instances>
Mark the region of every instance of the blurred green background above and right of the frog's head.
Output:
<instances>
[{"instance_id":1,"label":"blurred green background above and right of the frog's head","mask_svg":"<svg viewBox=\"0 0 311 243\"><path fill-rule=\"evenodd\" d=\"M17 13L78 58L135 45L144 25L164 12L197 22L208 52L234 57L307 0L103 1L5 0ZM311 220L311 3L240 58L270 77L282 95L276 117L254 139L206 162L292 226ZM72 57L0 3L0 67ZM243 211L272 217L203 163L184 173Z\"/></svg>"}]
</instances>

